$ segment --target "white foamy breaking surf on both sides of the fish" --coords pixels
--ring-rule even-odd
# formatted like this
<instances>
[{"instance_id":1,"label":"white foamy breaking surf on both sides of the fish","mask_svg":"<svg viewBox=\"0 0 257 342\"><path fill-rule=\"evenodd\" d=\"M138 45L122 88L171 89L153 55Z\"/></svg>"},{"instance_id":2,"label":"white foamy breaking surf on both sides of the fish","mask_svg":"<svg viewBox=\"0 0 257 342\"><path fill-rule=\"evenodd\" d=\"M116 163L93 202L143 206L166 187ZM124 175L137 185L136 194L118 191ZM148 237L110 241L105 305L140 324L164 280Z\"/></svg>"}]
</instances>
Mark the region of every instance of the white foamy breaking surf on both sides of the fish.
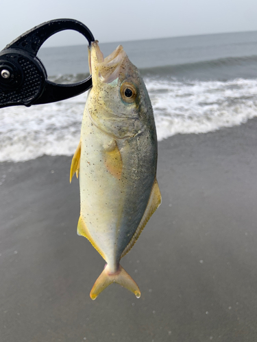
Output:
<instances>
[{"instance_id":1,"label":"white foamy breaking surf on both sides of the fish","mask_svg":"<svg viewBox=\"0 0 257 342\"><path fill-rule=\"evenodd\" d=\"M180 81L145 77L158 140L177 133L207 133L257 116L257 79ZM0 161L73 155L86 94L32 107L7 107L0 116Z\"/></svg>"}]
</instances>

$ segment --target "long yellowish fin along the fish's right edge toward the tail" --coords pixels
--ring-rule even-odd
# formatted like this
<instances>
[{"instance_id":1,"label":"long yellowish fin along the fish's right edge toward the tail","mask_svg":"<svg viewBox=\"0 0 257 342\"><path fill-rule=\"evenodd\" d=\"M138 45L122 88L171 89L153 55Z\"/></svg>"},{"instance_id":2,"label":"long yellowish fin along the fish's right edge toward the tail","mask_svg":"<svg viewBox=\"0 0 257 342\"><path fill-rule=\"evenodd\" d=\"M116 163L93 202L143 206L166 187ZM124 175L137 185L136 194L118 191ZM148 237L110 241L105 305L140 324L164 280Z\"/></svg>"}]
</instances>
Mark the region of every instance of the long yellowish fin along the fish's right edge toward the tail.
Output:
<instances>
[{"instance_id":1,"label":"long yellowish fin along the fish's right edge toward the tail","mask_svg":"<svg viewBox=\"0 0 257 342\"><path fill-rule=\"evenodd\" d=\"M121 254L121 258L123 258L125 254L130 252L134 244L136 244L136 241L139 235L142 233L143 229L145 228L145 225L151 218L151 215L153 215L154 211L156 211L156 209L160 206L161 202L162 202L162 196L160 194L160 189L159 189L157 180L155 180L154 185L151 189L151 194L150 194L149 201L147 204L147 209L145 209L143 218L140 221L140 224L138 228L136 229L134 235L132 236L132 239L127 244L127 247L125 248L125 250L123 250L123 253Z\"/></svg>"}]
</instances>

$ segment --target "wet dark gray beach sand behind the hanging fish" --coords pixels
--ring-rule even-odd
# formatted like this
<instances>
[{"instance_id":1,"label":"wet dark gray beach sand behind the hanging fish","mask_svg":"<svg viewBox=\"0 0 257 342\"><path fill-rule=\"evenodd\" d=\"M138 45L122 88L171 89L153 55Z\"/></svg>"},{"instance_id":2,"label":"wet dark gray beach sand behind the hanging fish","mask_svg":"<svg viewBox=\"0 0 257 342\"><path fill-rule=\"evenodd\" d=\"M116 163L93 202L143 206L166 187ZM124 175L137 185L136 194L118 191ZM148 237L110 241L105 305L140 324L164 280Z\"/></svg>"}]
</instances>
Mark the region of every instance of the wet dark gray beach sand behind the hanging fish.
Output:
<instances>
[{"instance_id":1,"label":"wet dark gray beach sand behind the hanging fish","mask_svg":"<svg viewBox=\"0 0 257 342\"><path fill-rule=\"evenodd\" d=\"M1 342L256 340L257 120L158 147L162 205L121 261L140 299L90 300L105 262L76 233L71 157L0 164Z\"/></svg>"}]
</instances>

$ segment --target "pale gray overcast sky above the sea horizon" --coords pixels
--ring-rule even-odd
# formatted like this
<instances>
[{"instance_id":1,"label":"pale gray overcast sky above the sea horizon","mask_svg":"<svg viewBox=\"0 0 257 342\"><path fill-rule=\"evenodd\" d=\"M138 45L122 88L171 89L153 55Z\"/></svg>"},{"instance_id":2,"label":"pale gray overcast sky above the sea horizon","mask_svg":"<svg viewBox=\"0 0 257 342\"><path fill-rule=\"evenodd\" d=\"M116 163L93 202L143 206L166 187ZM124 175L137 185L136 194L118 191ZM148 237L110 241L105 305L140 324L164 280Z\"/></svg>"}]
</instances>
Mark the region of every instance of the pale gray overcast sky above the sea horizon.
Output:
<instances>
[{"instance_id":1,"label":"pale gray overcast sky above the sea horizon","mask_svg":"<svg viewBox=\"0 0 257 342\"><path fill-rule=\"evenodd\" d=\"M257 0L1 0L0 50L45 21L82 21L99 42L257 30ZM66 31L47 46L84 44Z\"/></svg>"}]
</instances>

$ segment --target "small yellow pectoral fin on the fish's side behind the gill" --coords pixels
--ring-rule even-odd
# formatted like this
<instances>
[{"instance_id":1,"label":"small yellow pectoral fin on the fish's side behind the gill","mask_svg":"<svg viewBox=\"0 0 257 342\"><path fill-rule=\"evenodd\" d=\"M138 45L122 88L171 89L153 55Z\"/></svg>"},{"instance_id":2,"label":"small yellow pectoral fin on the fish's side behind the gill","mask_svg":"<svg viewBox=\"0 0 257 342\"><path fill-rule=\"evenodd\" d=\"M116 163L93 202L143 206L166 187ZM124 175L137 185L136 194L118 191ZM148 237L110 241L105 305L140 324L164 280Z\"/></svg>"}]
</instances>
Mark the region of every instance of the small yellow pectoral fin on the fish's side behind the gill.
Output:
<instances>
[{"instance_id":1,"label":"small yellow pectoral fin on the fish's side behind the gill","mask_svg":"<svg viewBox=\"0 0 257 342\"><path fill-rule=\"evenodd\" d=\"M106 150L104 159L104 163L110 174L117 179L121 179L123 162L117 142L114 141L114 148L112 148L112 150Z\"/></svg>"}]
</instances>

